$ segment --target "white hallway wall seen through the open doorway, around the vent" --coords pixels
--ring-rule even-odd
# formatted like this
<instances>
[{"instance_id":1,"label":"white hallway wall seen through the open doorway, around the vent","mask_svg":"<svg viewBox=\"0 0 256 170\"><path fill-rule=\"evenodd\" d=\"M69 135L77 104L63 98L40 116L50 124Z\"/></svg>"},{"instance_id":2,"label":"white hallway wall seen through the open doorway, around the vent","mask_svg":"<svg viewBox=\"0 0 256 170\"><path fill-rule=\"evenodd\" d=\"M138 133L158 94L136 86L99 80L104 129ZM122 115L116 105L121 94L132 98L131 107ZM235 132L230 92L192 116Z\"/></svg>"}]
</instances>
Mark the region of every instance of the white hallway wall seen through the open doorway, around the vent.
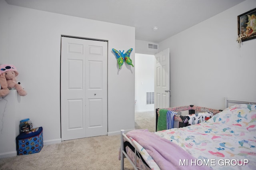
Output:
<instances>
[{"instance_id":1,"label":"white hallway wall seen through the open doorway, around the vent","mask_svg":"<svg viewBox=\"0 0 256 170\"><path fill-rule=\"evenodd\" d=\"M154 55L135 53L135 112L154 111L146 105L146 92L154 92Z\"/></svg>"}]
</instances>

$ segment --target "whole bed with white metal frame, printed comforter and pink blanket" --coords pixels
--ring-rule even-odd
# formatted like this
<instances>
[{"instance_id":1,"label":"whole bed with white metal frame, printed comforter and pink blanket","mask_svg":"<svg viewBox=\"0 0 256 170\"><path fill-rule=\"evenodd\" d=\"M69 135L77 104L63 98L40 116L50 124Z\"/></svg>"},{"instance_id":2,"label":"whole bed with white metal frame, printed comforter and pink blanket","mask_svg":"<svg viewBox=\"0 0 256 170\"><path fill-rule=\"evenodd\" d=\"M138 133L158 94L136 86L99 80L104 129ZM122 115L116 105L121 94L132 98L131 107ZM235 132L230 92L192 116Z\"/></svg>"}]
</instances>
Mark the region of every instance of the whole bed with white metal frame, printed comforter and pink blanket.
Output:
<instances>
[{"instance_id":1,"label":"whole bed with white metal frame, printed comforter and pink blanket","mask_svg":"<svg viewBox=\"0 0 256 170\"><path fill-rule=\"evenodd\" d=\"M121 169L127 158L136 170L255 170L256 102L225 99L225 106L191 126L154 133L121 130Z\"/></svg>"}]
</instances>

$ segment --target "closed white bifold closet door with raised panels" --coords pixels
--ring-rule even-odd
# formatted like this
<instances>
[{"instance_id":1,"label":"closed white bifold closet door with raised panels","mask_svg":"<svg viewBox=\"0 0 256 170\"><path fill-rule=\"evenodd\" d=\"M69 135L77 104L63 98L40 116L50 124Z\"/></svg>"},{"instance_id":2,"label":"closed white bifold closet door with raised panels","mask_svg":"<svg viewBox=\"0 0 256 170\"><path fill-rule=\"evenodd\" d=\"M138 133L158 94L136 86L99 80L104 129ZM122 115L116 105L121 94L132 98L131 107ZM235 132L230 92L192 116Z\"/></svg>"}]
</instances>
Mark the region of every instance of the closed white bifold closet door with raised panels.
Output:
<instances>
[{"instance_id":1,"label":"closed white bifold closet door with raised panels","mask_svg":"<svg viewBox=\"0 0 256 170\"><path fill-rule=\"evenodd\" d=\"M107 134L107 42L62 37L61 138Z\"/></svg>"}]
</instances>

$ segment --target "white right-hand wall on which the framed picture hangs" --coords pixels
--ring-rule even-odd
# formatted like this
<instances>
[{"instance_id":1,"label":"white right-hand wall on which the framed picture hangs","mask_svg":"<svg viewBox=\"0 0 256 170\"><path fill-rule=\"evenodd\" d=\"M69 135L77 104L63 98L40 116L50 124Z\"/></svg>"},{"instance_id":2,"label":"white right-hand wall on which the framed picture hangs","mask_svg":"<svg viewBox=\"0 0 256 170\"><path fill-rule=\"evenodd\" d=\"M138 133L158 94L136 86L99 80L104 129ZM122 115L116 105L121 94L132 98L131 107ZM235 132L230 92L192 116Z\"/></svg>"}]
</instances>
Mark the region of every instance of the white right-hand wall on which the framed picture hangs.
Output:
<instances>
[{"instance_id":1,"label":"white right-hand wall on which the framed picture hangs","mask_svg":"<svg viewBox=\"0 0 256 170\"><path fill-rule=\"evenodd\" d=\"M238 47L237 16L256 7L246 0L159 43L170 48L172 107L224 109L224 97L256 101L256 39Z\"/></svg>"}]
</instances>

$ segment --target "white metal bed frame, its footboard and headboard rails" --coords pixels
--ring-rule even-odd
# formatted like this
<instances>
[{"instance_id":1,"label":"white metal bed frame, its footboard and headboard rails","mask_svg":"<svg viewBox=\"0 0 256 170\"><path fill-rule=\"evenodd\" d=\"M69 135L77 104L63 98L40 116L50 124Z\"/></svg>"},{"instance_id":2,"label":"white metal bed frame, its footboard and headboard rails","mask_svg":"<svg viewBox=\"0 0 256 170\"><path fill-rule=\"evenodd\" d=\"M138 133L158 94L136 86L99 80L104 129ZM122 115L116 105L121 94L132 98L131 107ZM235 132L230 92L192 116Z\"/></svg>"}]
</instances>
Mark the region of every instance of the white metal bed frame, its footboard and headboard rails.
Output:
<instances>
[{"instance_id":1,"label":"white metal bed frame, its footboard and headboard rails","mask_svg":"<svg viewBox=\"0 0 256 170\"><path fill-rule=\"evenodd\" d=\"M228 104L254 104L256 105L256 102L253 101L243 101L243 100L235 100L235 99L228 99L227 97L224 98L225 100L225 109L228 108ZM157 110L156 110L157 111ZM129 156L126 154L125 152L125 148L124 148L124 138L126 139L126 141L130 142L130 144L134 147L134 156L135 156L135 161L133 162ZM129 162L132 164L134 170L140 170L141 168L136 166L136 159L137 159L137 153L138 151L136 150L136 146L134 146L131 142L131 140L126 136L126 134L124 134L124 130L121 130L121 144L120 144L120 157L121 157L121 170L124 170L124 158L127 158L129 160ZM139 152L138 152L139 153ZM140 159L142 159L141 157L139 157ZM145 168L146 165L144 164Z\"/></svg>"}]
</instances>

